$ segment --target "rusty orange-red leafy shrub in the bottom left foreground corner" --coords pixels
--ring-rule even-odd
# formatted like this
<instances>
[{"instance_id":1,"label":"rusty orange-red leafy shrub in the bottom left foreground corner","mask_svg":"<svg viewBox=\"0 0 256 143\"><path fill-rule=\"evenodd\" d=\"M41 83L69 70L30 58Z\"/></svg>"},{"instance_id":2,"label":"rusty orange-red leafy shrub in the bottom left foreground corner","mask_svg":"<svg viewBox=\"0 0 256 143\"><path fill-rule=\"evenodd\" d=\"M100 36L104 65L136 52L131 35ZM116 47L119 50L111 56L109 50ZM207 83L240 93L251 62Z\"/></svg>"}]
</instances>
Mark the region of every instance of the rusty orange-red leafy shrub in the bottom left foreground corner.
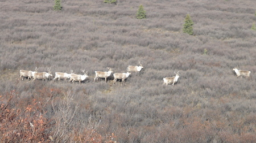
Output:
<instances>
[{"instance_id":1,"label":"rusty orange-red leafy shrub in the bottom left foreground corner","mask_svg":"<svg viewBox=\"0 0 256 143\"><path fill-rule=\"evenodd\" d=\"M1 142L50 142L50 120L44 118L44 113L34 101L25 109L11 107L11 94L6 103L1 103L0 132Z\"/></svg>"}]
</instances>

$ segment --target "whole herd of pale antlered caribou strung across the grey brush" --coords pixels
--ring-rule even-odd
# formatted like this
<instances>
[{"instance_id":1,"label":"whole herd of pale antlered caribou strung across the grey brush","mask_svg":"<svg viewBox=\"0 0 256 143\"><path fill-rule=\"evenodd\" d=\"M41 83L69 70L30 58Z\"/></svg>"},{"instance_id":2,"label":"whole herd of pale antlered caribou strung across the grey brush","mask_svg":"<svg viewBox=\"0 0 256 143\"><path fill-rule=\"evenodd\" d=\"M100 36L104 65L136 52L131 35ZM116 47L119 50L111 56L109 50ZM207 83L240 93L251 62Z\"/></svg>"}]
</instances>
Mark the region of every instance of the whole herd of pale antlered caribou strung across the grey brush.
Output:
<instances>
[{"instance_id":1,"label":"whole herd of pale antlered caribou strung across the grey brush","mask_svg":"<svg viewBox=\"0 0 256 143\"><path fill-rule=\"evenodd\" d=\"M122 83L125 83L125 79L127 77L129 77L129 75L131 74L131 72L140 72L142 70L142 68L144 68L142 66L142 64L139 62L139 66L128 66L127 67L127 73L114 73L114 84L117 81L117 79L122 80L121 81L121 85ZM113 72L111 68L109 68L108 72L102 72L102 71L95 71L95 77L94 80L98 80L98 78L105 78L105 81L107 77L109 77L111 75L111 73ZM71 70L71 73L63 73L63 72L55 72L55 77L53 79L53 81L55 81L56 79L58 79L60 81L60 79L64 79L67 80L69 79L69 82L72 81L72 83L74 83L74 81L79 81L79 84L81 83L81 81L84 81L86 79L86 77L88 77L87 75L87 71L84 72L85 70L82 70L82 73L84 73L84 75L77 75L75 73L73 73L73 71ZM250 71L243 71L243 70L238 70L237 68L233 68L233 71L236 72L237 77L241 76L241 77L250 77ZM180 75L179 75L179 71L175 72L176 76L173 77L165 77L163 78L163 85L168 85L168 84L172 84L172 86L174 86L175 83L177 83L177 80L179 79ZM20 76L19 78L21 78L23 80L23 77L27 77L28 79L31 80L36 80L36 79L42 79L42 80L46 80L48 79L49 76L52 76L52 72L50 71L50 68L48 68L48 72L38 72L37 71L37 67L35 68L35 71L25 71L25 70L20 70Z\"/></svg>"}]
</instances>

